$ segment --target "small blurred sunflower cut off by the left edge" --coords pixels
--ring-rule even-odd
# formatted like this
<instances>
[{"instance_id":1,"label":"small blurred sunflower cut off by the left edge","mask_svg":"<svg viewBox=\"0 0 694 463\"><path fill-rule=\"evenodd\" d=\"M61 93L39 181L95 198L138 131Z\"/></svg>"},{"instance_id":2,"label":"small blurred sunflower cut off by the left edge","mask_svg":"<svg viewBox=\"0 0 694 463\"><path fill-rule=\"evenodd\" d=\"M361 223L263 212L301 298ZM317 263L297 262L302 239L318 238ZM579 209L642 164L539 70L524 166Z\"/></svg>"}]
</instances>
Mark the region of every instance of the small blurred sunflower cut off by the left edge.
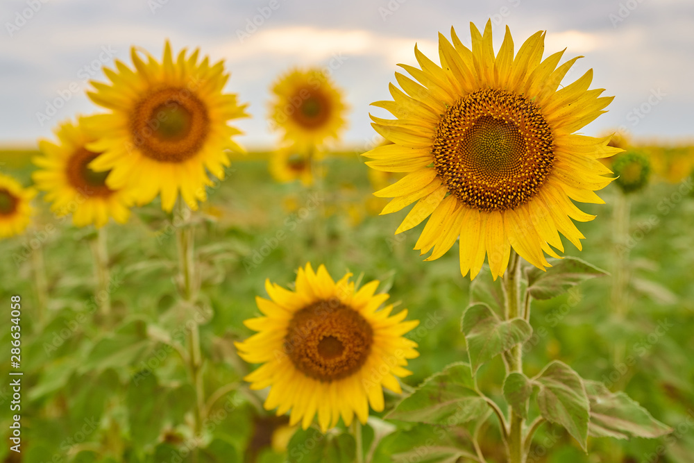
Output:
<instances>
[{"instance_id":1,"label":"small blurred sunflower cut off by the left edge","mask_svg":"<svg viewBox=\"0 0 694 463\"><path fill-rule=\"evenodd\" d=\"M23 188L14 178L0 174L0 238L21 234L33 215L33 188Z\"/></svg>"}]
</instances>

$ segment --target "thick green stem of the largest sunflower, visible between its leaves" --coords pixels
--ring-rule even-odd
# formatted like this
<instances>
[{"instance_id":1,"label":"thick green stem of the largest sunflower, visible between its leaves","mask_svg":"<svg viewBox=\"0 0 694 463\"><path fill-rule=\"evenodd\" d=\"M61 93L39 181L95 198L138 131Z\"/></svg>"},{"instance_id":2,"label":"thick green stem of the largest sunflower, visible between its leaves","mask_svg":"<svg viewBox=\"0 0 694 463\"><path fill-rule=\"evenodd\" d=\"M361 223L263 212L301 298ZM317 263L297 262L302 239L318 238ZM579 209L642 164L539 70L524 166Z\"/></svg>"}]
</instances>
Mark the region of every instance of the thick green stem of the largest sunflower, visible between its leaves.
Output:
<instances>
[{"instance_id":1,"label":"thick green stem of the largest sunflower, visible between its leaves","mask_svg":"<svg viewBox=\"0 0 694 463\"><path fill-rule=\"evenodd\" d=\"M505 315L507 320L514 319L521 314L521 256L511 250L509 269L503 280ZM525 310L524 310L525 312ZM523 373L523 349L521 344L513 346L508 355L509 370ZM507 440L507 451L510 463L525 463L525 449L523 448L523 416L514 412L509 407L511 416L511 429Z\"/></svg>"}]
</instances>

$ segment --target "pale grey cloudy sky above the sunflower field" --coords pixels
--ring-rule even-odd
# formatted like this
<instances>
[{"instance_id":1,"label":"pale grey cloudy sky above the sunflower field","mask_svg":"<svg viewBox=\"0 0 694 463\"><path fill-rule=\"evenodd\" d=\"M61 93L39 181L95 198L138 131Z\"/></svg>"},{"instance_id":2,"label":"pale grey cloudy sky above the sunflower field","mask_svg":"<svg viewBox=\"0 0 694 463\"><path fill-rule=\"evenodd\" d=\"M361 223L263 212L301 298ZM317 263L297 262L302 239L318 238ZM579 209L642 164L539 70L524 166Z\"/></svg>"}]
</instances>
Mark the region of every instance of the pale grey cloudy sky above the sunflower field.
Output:
<instances>
[{"instance_id":1,"label":"pale grey cloudy sky above the sunflower field","mask_svg":"<svg viewBox=\"0 0 694 463\"><path fill-rule=\"evenodd\" d=\"M228 91L251 103L253 118L238 122L242 144L273 144L269 86L290 67L312 65L329 67L346 92L344 141L363 146L374 136L369 110L384 116L369 103L389 99L398 63L416 64L414 44L437 60L439 31L455 26L469 44L469 22L483 28L489 18L495 49L508 25L516 50L545 30L545 56L564 47L566 59L585 56L564 83L592 67L592 87L616 98L583 133L694 133L691 0L3 0L0 18L0 145L33 144L58 121L94 112L84 90L89 78L104 80L102 65L129 62L132 45L160 57L169 38L174 51L201 47L226 60Z\"/></svg>"}]
</instances>

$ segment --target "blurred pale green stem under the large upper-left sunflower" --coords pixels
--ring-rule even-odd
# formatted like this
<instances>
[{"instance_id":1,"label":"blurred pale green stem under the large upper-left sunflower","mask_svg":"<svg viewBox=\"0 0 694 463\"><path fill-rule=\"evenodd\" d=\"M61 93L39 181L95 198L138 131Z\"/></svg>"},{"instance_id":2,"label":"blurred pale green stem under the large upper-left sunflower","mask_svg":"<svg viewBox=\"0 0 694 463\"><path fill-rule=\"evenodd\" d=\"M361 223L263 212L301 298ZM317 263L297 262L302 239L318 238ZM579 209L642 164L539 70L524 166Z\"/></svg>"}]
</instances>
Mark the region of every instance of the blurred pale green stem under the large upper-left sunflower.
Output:
<instances>
[{"instance_id":1,"label":"blurred pale green stem under the large upper-left sunflower","mask_svg":"<svg viewBox=\"0 0 694 463\"><path fill-rule=\"evenodd\" d=\"M194 312L197 299L196 269L194 259L194 228L189 223L191 211L178 199L175 216L180 220L180 226L176 227L176 244L178 245L178 287L181 298L187 309ZM195 389L194 410L194 437L201 439L203 420L205 419L205 385L203 383L203 360L200 348L200 328L196 317L191 318L190 332L188 336L188 369L191 381ZM199 440L198 440L199 444ZM198 451L193 453L194 461L197 461Z\"/></svg>"}]
</instances>

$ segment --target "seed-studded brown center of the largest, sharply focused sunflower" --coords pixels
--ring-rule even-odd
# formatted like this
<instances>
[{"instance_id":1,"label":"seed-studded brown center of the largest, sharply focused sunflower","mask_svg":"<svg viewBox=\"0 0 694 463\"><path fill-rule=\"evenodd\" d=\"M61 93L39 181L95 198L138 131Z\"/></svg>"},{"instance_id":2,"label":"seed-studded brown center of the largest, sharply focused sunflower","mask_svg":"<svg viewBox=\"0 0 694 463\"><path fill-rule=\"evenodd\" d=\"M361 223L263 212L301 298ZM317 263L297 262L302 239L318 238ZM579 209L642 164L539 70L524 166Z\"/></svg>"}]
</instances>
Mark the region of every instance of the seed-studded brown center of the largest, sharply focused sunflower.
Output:
<instances>
[{"instance_id":1,"label":"seed-studded brown center of the largest, sharply focused sunflower","mask_svg":"<svg viewBox=\"0 0 694 463\"><path fill-rule=\"evenodd\" d=\"M538 192L552 169L552 130L539 108L504 90L479 90L441 117L434 167L451 194L477 210L506 210Z\"/></svg>"}]
</instances>

